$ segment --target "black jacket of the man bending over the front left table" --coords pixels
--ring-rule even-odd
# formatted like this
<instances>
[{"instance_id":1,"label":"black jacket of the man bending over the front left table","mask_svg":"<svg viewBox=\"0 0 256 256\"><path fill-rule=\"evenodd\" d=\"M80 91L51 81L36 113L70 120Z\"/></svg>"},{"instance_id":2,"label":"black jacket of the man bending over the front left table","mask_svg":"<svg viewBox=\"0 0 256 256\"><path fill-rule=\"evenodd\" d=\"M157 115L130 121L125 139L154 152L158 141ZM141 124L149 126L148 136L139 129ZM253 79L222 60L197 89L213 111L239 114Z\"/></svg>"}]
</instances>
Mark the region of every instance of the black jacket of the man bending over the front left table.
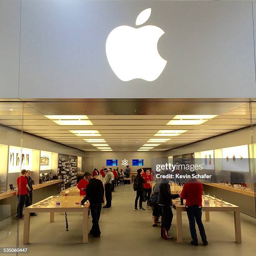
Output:
<instances>
[{"instance_id":1,"label":"black jacket of the man bending over the front left table","mask_svg":"<svg viewBox=\"0 0 256 256\"><path fill-rule=\"evenodd\" d=\"M86 187L86 197L83 200L89 200L90 204L99 204L103 202L104 187L100 179L92 178Z\"/></svg>"}]
</instances>

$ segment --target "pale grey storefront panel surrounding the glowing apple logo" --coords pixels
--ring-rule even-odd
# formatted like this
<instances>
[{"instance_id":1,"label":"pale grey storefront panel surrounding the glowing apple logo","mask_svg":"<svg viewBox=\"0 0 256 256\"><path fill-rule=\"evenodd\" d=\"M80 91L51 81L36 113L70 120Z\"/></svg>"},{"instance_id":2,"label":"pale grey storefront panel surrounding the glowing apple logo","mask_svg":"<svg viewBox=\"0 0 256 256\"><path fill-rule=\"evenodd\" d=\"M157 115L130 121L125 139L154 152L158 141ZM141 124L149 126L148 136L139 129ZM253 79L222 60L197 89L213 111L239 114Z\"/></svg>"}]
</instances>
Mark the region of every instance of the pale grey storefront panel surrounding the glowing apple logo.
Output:
<instances>
[{"instance_id":1,"label":"pale grey storefront panel surrounding the glowing apple logo","mask_svg":"<svg viewBox=\"0 0 256 256\"><path fill-rule=\"evenodd\" d=\"M165 32L166 67L153 82L123 82L106 39L120 25L136 27L149 7L145 25ZM256 97L251 1L21 0L21 24L19 11L20 0L0 0L1 97Z\"/></svg>"}]
</instances>

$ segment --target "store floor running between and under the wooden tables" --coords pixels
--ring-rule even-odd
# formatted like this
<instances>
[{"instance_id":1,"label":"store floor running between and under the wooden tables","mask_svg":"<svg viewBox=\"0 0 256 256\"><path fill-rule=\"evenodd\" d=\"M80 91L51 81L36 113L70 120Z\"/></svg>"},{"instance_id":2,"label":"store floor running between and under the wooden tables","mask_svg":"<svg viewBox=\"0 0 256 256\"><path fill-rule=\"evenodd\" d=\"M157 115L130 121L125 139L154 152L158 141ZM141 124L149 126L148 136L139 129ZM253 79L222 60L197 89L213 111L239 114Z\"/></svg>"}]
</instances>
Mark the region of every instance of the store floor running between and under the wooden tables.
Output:
<instances>
[{"instance_id":1,"label":"store floor running between and under the wooden tables","mask_svg":"<svg viewBox=\"0 0 256 256\"><path fill-rule=\"evenodd\" d=\"M171 227L173 239L165 241L160 227L152 227L152 211L134 211L135 192L131 185L118 187L113 193L112 208L102 209L101 237L89 237L82 243L82 215L68 213L69 231L65 231L64 215L56 214L49 223L49 213L31 217L29 255L191 255L255 256L256 219L241 214L243 243L235 243L233 214L212 212L210 222L204 222L208 246L190 245L189 226L183 212L183 243L176 243L176 212ZM143 203L145 204L145 203ZM8 218L0 222L0 247L16 246L18 221ZM89 219L89 228L91 218ZM19 223L19 246L23 247L23 220Z\"/></svg>"}]
</instances>

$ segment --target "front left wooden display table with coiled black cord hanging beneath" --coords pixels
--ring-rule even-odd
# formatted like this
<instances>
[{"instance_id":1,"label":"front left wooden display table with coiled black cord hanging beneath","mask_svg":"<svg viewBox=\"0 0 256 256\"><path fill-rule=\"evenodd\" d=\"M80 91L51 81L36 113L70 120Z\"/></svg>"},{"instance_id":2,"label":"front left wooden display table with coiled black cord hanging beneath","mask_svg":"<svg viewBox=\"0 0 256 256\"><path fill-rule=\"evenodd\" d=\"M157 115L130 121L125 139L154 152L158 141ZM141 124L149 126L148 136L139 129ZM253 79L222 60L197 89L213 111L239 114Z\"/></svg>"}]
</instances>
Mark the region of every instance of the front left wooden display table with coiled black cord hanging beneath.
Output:
<instances>
[{"instance_id":1,"label":"front left wooden display table with coiled black cord hanging beneath","mask_svg":"<svg viewBox=\"0 0 256 256\"><path fill-rule=\"evenodd\" d=\"M29 243L30 212L50 212L50 222L54 222L54 212L83 212L83 243L88 243L88 211L90 204L75 205L75 202L81 202L82 199L83 196L51 196L26 207L24 215L23 244ZM41 202L46 202L46 200L50 200L49 204L40 204ZM59 207L56 206L56 201L61 202ZM40 206L35 207L36 205Z\"/></svg>"}]
</instances>

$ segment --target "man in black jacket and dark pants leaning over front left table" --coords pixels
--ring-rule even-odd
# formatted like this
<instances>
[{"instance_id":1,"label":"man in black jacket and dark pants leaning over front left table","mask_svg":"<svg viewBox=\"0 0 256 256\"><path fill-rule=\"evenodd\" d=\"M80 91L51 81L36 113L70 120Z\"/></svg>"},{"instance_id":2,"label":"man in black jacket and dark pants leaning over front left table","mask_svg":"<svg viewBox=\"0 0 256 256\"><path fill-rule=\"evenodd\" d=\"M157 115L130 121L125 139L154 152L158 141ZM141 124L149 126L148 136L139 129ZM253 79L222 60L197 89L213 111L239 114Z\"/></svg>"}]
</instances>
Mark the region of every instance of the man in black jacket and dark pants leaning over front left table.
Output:
<instances>
[{"instance_id":1,"label":"man in black jacket and dark pants leaning over front left table","mask_svg":"<svg viewBox=\"0 0 256 256\"><path fill-rule=\"evenodd\" d=\"M86 187L86 197L81 201L81 204L84 205L84 202L89 200L92 214L92 229L90 230L90 234L95 237L100 237L99 220L104 196L104 187L102 181L92 177L90 172L86 172L84 178L89 183Z\"/></svg>"}]
</instances>

